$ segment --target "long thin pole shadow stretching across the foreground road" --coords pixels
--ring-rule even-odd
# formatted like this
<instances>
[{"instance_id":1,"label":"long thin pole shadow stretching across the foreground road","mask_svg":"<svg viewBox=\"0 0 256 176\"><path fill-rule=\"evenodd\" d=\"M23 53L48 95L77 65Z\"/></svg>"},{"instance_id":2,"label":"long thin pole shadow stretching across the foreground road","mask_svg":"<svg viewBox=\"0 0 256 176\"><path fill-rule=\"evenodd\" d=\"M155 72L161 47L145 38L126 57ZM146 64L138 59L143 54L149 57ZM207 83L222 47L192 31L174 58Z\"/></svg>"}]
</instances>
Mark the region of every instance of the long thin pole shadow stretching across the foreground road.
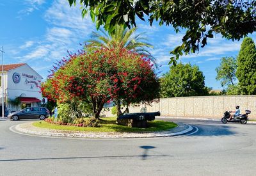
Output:
<instances>
[{"instance_id":1,"label":"long thin pole shadow stretching across the foreground road","mask_svg":"<svg viewBox=\"0 0 256 176\"><path fill-rule=\"evenodd\" d=\"M170 155L147 155L147 157L165 157ZM1 162L10 161L38 161L38 160L57 160L57 159L104 159L104 158L120 158L120 157L144 157L143 155L138 156L88 156L88 157L45 157L45 158L27 158L27 159L0 159Z\"/></svg>"}]
</instances>

